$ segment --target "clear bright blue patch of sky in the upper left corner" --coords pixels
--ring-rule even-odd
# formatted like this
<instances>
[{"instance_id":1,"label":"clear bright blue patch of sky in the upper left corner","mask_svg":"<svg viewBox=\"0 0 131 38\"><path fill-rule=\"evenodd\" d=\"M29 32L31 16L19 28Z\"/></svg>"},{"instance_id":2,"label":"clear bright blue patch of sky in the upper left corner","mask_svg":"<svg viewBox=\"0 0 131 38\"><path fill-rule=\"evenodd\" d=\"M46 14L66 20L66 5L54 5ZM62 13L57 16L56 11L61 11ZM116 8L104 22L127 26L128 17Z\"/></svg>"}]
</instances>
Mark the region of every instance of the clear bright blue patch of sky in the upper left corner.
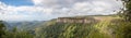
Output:
<instances>
[{"instance_id":1,"label":"clear bright blue patch of sky in the upper left corner","mask_svg":"<svg viewBox=\"0 0 131 38\"><path fill-rule=\"evenodd\" d=\"M34 5L32 0L0 0L0 1L8 5L15 5L15 7Z\"/></svg>"}]
</instances>

